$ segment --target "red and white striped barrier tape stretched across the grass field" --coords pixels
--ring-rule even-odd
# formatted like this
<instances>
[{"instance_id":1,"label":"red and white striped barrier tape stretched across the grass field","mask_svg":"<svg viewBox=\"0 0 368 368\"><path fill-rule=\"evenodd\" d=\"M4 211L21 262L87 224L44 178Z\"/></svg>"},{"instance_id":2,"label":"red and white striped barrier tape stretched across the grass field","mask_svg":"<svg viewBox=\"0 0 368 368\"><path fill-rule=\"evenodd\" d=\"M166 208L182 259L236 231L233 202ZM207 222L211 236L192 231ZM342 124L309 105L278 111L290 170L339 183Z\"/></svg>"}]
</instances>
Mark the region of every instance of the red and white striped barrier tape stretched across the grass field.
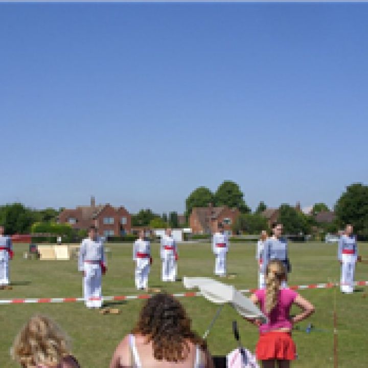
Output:
<instances>
[{"instance_id":1,"label":"red and white striped barrier tape stretched across the grass field","mask_svg":"<svg viewBox=\"0 0 368 368\"><path fill-rule=\"evenodd\" d=\"M305 289L328 289L334 286L339 286L339 283L325 283L325 284L311 284L311 285L297 285L297 286L289 286L292 290L305 290ZM368 281L356 281L354 283L355 286L368 286ZM240 290L243 293L254 292L257 289L244 289ZM184 292L184 293L176 293L173 294L175 297L193 297L200 296L200 292L192 291L192 292ZM148 299L152 295L151 294L140 294L140 295L118 295L118 296L103 296L102 299L104 302L106 301L124 301L124 300L133 300L133 299ZM99 298L89 298L90 301L97 301ZM0 299L0 304L24 304L24 303L75 303L75 302L84 302L84 298L29 298L29 299Z\"/></svg>"}]
</instances>

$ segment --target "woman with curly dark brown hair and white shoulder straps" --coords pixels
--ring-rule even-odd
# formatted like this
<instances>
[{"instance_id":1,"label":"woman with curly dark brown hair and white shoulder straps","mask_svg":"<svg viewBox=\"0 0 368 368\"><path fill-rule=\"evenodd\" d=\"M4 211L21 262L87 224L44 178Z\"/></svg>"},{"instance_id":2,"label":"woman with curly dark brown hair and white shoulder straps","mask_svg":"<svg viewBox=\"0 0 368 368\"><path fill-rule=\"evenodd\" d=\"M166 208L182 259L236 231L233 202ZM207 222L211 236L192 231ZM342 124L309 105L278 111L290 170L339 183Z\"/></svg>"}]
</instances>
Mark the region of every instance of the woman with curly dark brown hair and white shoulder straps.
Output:
<instances>
[{"instance_id":1,"label":"woman with curly dark brown hair and white shoulder straps","mask_svg":"<svg viewBox=\"0 0 368 368\"><path fill-rule=\"evenodd\" d=\"M183 306L159 293L147 300L131 334L118 345L110 368L213 368L206 343L191 329Z\"/></svg>"}]
</instances>

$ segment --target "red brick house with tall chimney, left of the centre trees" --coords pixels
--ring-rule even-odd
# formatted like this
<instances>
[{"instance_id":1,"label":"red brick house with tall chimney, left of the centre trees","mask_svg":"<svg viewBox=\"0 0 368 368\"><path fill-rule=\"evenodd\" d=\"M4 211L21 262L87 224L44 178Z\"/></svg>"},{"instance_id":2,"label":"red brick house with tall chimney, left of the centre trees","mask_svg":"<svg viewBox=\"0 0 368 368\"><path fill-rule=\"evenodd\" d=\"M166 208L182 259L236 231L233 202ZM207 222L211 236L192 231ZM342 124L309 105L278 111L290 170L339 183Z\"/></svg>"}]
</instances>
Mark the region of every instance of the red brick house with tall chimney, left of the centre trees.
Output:
<instances>
[{"instance_id":1,"label":"red brick house with tall chimney, left of the centre trees","mask_svg":"<svg viewBox=\"0 0 368 368\"><path fill-rule=\"evenodd\" d=\"M58 216L59 223L68 223L75 229L87 229L95 225L101 236L121 236L131 231L131 215L123 207L114 208L109 203L96 205L91 197L89 206L77 206L64 210Z\"/></svg>"}]
</instances>

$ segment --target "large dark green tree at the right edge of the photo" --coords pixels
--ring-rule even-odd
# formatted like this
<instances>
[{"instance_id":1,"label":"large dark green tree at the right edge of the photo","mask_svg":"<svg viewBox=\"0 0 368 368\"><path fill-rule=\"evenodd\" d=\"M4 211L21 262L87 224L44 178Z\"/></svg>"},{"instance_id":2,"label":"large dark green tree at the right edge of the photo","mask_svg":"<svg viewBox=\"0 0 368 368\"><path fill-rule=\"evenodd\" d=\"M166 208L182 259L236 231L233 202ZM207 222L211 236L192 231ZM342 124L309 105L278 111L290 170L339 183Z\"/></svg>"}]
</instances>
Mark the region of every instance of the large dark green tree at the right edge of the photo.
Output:
<instances>
[{"instance_id":1,"label":"large dark green tree at the right edge of the photo","mask_svg":"<svg viewBox=\"0 0 368 368\"><path fill-rule=\"evenodd\" d=\"M335 214L340 226L350 223L355 233L368 237L368 187L362 183L347 187L336 202Z\"/></svg>"}]
</instances>

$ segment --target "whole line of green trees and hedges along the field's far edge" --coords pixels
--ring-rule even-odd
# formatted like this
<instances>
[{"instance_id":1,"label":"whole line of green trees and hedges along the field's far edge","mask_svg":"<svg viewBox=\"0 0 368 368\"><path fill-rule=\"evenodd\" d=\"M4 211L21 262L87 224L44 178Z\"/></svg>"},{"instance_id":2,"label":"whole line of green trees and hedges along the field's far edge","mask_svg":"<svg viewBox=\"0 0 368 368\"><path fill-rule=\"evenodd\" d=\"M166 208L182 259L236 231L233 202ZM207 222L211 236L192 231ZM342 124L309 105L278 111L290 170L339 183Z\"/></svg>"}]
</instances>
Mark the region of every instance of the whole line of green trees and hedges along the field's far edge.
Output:
<instances>
[{"instance_id":1,"label":"whole line of green trees and hedges along the field's far edge","mask_svg":"<svg viewBox=\"0 0 368 368\"><path fill-rule=\"evenodd\" d=\"M262 212L267 209L264 201L261 201L257 209L251 212L244 200L244 194L239 185L231 180L225 180L212 192L209 188L198 187L193 190L186 199L186 223L194 207L205 207L226 205L229 208L238 209L240 216L233 224L235 233L258 234L263 229L267 229L267 219ZM70 236L82 236L74 234L68 224L58 224L56 220L63 208L56 210L46 208L35 210L22 203L11 203L0 206L0 224L6 228L7 234L28 234L33 233L63 233ZM347 223L354 226L359 237L368 239L368 187L362 183L353 183L341 194L334 205L335 219L332 223L317 223L315 217L318 213L329 211L328 206L323 202L315 203L311 216L307 216L297 211L293 206L283 203L279 207L278 220L284 224L285 232L288 234L311 234L315 227L325 233L336 233ZM65 228L60 228L64 226ZM132 215L132 226L147 226L151 228L180 227L177 212L156 214L151 209L142 209Z\"/></svg>"}]
</instances>

